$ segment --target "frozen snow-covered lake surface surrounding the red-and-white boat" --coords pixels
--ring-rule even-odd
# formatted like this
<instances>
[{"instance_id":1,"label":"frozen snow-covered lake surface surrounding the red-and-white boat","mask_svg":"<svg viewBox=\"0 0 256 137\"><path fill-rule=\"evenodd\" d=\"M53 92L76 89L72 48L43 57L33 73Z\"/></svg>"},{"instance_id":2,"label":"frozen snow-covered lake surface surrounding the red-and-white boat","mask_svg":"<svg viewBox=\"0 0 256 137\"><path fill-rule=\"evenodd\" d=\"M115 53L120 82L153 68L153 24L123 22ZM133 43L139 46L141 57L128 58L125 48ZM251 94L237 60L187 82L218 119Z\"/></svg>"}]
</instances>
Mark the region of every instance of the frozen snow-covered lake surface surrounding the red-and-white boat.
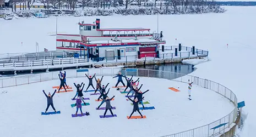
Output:
<instances>
[{"instance_id":1,"label":"frozen snow-covered lake surface surrounding the red-and-white boat","mask_svg":"<svg viewBox=\"0 0 256 137\"><path fill-rule=\"evenodd\" d=\"M159 15L159 31L164 31L168 45L182 43L184 46L195 45L195 48L209 50L211 61L196 65L197 71L192 75L219 82L237 95L238 102L246 101L243 112L249 115L241 136L254 136L256 7L225 8L227 12L223 14ZM58 32L76 34L79 32L79 20L93 22L96 18L101 19L101 27L148 27L157 31L156 15L129 15L61 17L58 18ZM35 42L39 42L40 51L43 48L55 50L55 37L48 36L55 31L56 18L0 20L0 53L35 52Z\"/></svg>"}]
</instances>

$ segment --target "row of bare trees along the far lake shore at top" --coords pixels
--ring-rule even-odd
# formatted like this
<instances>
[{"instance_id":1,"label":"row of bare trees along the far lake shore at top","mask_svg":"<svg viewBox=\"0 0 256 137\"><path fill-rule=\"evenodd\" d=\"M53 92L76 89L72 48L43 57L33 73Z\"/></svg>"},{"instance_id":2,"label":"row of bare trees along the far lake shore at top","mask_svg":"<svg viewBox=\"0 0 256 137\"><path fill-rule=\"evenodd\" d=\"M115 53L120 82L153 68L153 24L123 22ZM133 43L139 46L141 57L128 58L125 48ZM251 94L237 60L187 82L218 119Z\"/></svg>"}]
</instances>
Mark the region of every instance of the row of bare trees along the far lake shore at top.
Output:
<instances>
[{"instance_id":1,"label":"row of bare trees along the far lake shore at top","mask_svg":"<svg viewBox=\"0 0 256 137\"><path fill-rule=\"evenodd\" d=\"M4 0L0 0L4 1ZM35 0L10 0L12 9L16 11L16 5L19 4L20 10L26 10L33 6ZM85 9L87 7L95 7L100 9L105 9L110 7L118 8L119 6L124 6L125 9L131 7L131 3L137 3L138 7L146 7L149 2L148 0L39 0L45 9L51 8L59 8L59 9L75 9L77 8L77 4L81 5L81 8ZM0 2L1 3L1 2ZM66 4L63 6L63 4ZM23 5L23 6L21 6ZM188 11L193 10L194 13L205 13L208 9L220 8L217 6L215 0L152 0L151 7L154 8L171 8L173 10L173 14L176 13L189 13Z\"/></svg>"}]
</instances>

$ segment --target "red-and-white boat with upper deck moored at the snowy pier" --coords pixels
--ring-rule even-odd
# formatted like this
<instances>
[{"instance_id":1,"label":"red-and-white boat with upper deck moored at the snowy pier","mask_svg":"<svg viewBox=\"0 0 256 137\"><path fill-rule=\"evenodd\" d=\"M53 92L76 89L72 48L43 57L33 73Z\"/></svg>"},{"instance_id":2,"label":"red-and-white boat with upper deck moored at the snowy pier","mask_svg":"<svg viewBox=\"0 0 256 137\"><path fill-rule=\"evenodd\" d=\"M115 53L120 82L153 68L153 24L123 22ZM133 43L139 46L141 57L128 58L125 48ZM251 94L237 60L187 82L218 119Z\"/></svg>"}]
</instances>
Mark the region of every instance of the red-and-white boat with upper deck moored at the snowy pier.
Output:
<instances>
[{"instance_id":1,"label":"red-and-white boat with upper deck moored at the snowy pier","mask_svg":"<svg viewBox=\"0 0 256 137\"><path fill-rule=\"evenodd\" d=\"M101 28L100 19L96 24L78 25L79 35L57 34L57 50L80 52L97 61L130 56L157 58L160 44L166 43L162 34L150 33L149 28Z\"/></svg>"}]
</instances>

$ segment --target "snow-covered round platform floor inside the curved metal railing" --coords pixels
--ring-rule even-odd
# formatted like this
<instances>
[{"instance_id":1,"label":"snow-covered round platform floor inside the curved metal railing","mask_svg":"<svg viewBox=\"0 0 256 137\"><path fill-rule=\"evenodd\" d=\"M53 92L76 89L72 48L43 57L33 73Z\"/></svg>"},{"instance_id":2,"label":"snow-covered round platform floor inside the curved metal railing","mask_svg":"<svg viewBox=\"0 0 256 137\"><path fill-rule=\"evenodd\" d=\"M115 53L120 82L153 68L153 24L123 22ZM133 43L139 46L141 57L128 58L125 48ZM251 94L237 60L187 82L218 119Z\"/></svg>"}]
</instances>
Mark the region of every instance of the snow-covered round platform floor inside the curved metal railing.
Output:
<instances>
[{"instance_id":1,"label":"snow-covered round platform floor inside the curved metal railing","mask_svg":"<svg viewBox=\"0 0 256 137\"><path fill-rule=\"evenodd\" d=\"M137 78L134 77L134 79ZM90 112L90 116L72 118L71 115L75 113L75 109L72 109L70 104L75 103L71 100L75 92L56 93L53 101L61 114L41 116L41 112L46 108L46 98L42 90L52 93L52 86L59 85L59 80L0 89L2 93L0 94L1 134L5 136L72 136L83 131L85 136L120 136L121 133L122 136L161 136L211 123L227 115L234 108L233 104L223 96L197 85L193 86L193 100L189 101L186 83L140 77L140 83L143 84L141 91L150 90L145 94L144 100L149 101L150 104L145 106L154 106L156 109L141 111L146 119L127 119L126 116L130 115L133 106L126 100L124 94L112 88L116 81L117 78L105 76L102 82L105 85L110 82L108 88L111 90L108 96L116 95L111 104L116 107L113 112L117 117L105 119L99 117L103 115L104 110L95 110L100 104L95 101L99 95L91 96L90 93L84 94L86 98L90 98L85 100L90 105L82 107L84 112ZM87 85L88 79L68 78L67 84L74 89L73 82L84 82ZM154 83L161 83L161 86ZM168 89L169 87L179 87L181 92L173 92ZM51 108L50 111L52 111ZM134 116L138 115L134 113ZM15 132L10 132L11 129Z\"/></svg>"}]
</instances>

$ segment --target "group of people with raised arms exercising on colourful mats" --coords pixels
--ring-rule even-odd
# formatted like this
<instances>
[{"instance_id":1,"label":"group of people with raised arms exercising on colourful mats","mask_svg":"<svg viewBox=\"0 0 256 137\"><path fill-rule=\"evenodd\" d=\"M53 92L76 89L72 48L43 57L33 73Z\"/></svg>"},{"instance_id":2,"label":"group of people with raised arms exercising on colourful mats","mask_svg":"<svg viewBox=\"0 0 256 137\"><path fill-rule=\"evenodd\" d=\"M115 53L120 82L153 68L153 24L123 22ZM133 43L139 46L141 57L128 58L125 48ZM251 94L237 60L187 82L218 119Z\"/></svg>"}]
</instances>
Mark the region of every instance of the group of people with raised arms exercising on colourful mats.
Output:
<instances>
[{"instance_id":1,"label":"group of people with raised arms exercising on colourful mats","mask_svg":"<svg viewBox=\"0 0 256 137\"><path fill-rule=\"evenodd\" d=\"M96 74L96 73L95 73L95 74ZM101 85L101 82L102 82L102 79L103 79L104 76L102 76L101 79L100 79L100 78L97 79L97 78L95 77L95 74L94 74L94 76L92 76L92 77L85 74L85 76L89 79L89 84L88 84L88 87L86 88L85 92L88 91L88 89L89 89L90 86L95 90L94 94L96 94L96 92L99 91L99 92L100 92L100 96L99 96L99 98L98 98L97 100L100 101L100 99L101 99L102 101L101 101L100 105L97 107L97 110L99 110L99 109L100 109L100 106L103 105L104 102L106 102L104 117L106 116L106 113L107 113L108 110L111 112L111 115L114 116L114 115L113 115L113 112L112 112L111 100L113 100L113 98L115 98L115 95L112 96L112 98L109 98L109 97L107 96L108 93L110 92L110 88L108 88L108 90L107 90L107 92L106 92L107 86L108 86L108 84L110 84L110 83L107 83L106 86L105 86L105 85ZM63 88L65 89L65 91L67 92L67 89L65 88L65 85L66 85L66 87L68 88L68 85L67 85L67 83L66 83L66 71L64 71L64 73L62 73L62 72L60 71L60 73L59 73L58 76L59 76L59 79L60 79L60 81L61 81L61 84L60 84L60 86L59 86L58 92L59 92L59 90L61 90L62 87L63 87ZM132 104L133 104L133 111L132 111L132 113L130 114L129 118L132 117L133 113L136 112L136 111L138 111L138 113L140 114L141 118L143 118L143 115L142 115L142 114L140 113L140 111L139 111L139 104L141 104L141 105L143 106L143 109L145 109L144 104L143 104L143 99L144 99L143 94L145 94L145 93L148 92L149 90L146 90L145 92L141 92L141 91L140 91L140 89L141 89L141 87L142 87L143 84L141 84L140 87L138 88L138 85L139 85L139 78L138 78L136 81L133 81L133 79L132 79L133 76L132 76L131 78L128 78L128 77L126 77L126 76L123 76L121 72L119 72L119 73L118 73L115 77L113 77L113 78L116 78L116 77L118 77L118 81L117 81L115 87L117 87L117 85L118 85L120 82L123 84L124 87L126 86L126 85L124 84L124 82L123 82L123 79L122 79L122 78L124 77L124 78L126 79L126 81L127 81L127 86L126 86L126 89L124 89L124 92L126 92L126 90L127 90L128 88L130 88L130 89L129 89L129 92L128 92L128 94L127 94L127 97L128 97L128 99L129 99L130 101L132 101ZM96 89L94 88L94 85L92 84L92 79L94 79L94 78L95 78L95 81L96 81L96 83L97 83ZM138 82L138 83L137 83L137 82ZM75 100L75 97L78 96L78 98L76 99L76 103L75 103L75 106L77 106L77 111L75 112L75 115L77 115L78 110L80 109L81 115L83 116L83 111L81 110L81 106L82 106L82 102L84 103L84 105L86 105L86 103L84 102L84 97L83 97L83 96L84 96L84 95L83 95L83 89L84 89L84 85L85 85L85 84L82 82L81 84L75 84L75 83L74 83L74 85L75 85L75 88L77 88L77 93L75 94L73 100ZM52 95L51 95L51 93L48 93L48 95L46 95L45 91L43 90L43 93L45 94L45 96L46 96L46 98L47 98L47 108L46 108L46 110L45 110L45 113L47 112L47 110L48 110L48 108L49 108L50 106L52 106L52 109L56 112L56 109L55 109L55 107L53 106L53 101L52 101L52 98L53 98L53 96L55 95L56 92L57 92L57 90L55 90L55 92L54 92ZM128 96L131 92L132 92L132 96L134 95L134 98L133 98L133 99L131 99L132 97L130 98L130 97ZM86 115L87 115L87 113L86 113Z\"/></svg>"}]
</instances>

